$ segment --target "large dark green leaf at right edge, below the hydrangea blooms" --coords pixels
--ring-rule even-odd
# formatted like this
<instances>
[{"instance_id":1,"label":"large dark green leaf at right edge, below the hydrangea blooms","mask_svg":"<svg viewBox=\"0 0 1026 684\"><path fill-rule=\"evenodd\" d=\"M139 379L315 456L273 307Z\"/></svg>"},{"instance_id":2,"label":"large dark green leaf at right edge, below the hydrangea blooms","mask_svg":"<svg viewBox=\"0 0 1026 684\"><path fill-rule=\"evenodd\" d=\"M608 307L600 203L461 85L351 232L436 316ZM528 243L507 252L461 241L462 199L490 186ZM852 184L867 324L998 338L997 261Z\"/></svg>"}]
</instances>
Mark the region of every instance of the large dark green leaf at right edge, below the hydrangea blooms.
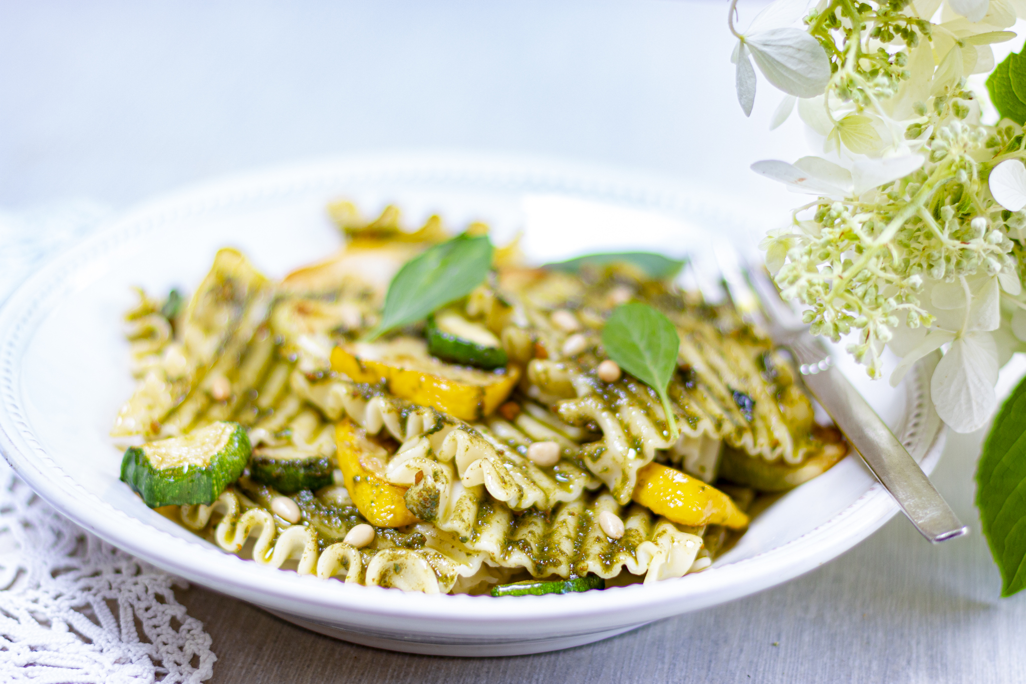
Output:
<instances>
[{"instance_id":1,"label":"large dark green leaf at right edge, below the hydrangea blooms","mask_svg":"<svg viewBox=\"0 0 1026 684\"><path fill-rule=\"evenodd\" d=\"M1001 571L1001 596L1026 588L1026 379L994 419L976 471L983 534Z\"/></svg>"}]
</instances>

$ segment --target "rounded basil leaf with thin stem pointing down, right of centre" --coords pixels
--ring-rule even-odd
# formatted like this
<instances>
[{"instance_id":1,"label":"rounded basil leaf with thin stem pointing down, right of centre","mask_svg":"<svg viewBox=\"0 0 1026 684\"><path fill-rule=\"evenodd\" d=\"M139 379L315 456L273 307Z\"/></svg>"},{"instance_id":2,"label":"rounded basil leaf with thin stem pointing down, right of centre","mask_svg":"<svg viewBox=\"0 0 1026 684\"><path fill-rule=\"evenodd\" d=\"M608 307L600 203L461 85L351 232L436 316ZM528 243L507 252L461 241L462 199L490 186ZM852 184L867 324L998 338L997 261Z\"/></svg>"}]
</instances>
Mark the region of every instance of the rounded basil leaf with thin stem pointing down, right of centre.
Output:
<instances>
[{"instance_id":1,"label":"rounded basil leaf with thin stem pointing down, right of centre","mask_svg":"<svg viewBox=\"0 0 1026 684\"><path fill-rule=\"evenodd\" d=\"M621 305L605 322L602 346L621 368L656 391L666 412L670 439L677 439L680 433L666 389L677 367L680 337L670 319L646 304Z\"/></svg>"}]
</instances>

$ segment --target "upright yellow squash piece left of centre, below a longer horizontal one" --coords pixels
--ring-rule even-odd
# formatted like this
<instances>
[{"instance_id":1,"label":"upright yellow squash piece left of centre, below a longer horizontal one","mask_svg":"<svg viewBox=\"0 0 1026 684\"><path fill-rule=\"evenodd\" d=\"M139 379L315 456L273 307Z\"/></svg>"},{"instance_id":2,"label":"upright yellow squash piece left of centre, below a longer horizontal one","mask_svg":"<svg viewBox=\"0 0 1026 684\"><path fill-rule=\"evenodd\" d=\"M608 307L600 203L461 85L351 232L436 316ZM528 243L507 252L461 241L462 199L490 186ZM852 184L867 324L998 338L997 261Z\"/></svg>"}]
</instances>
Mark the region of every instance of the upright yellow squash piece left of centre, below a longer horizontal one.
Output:
<instances>
[{"instance_id":1,"label":"upright yellow squash piece left of centre, below a longer horizontal one","mask_svg":"<svg viewBox=\"0 0 1026 684\"><path fill-rule=\"evenodd\" d=\"M367 439L363 429L349 418L339 421L334 436L339 446L336 457L346 479L346 489L367 522L378 527L402 527L417 522L403 500L408 487L385 480L388 451Z\"/></svg>"}]
</instances>

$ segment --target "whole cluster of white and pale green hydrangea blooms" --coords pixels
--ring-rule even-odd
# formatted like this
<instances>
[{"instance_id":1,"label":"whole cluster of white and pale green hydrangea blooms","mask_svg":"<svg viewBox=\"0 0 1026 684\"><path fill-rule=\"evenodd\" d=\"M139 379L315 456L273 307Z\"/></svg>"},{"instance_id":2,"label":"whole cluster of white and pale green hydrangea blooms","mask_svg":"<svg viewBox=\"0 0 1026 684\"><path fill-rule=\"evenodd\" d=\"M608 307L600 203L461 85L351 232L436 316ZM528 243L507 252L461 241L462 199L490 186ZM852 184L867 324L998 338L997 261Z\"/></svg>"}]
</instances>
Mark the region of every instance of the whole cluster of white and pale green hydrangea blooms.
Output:
<instances>
[{"instance_id":1,"label":"whole cluster of white and pale green hydrangea blooms","mask_svg":"<svg viewBox=\"0 0 1026 684\"><path fill-rule=\"evenodd\" d=\"M931 395L944 421L968 432L996 407L997 369L1026 351L1026 158L993 165L995 156L1018 156L1010 146L1022 128L984 124L966 79L994 68L990 46L1015 37L1005 29L1026 16L1026 0L889 7L905 23L866 4L824 0L806 10L803 0L778 0L744 34L732 24L746 113L754 59L786 93L771 129L797 110L821 147L793 163L752 165L818 197L760 247L782 295L804 307L810 330L834 341L851 335L847 350L870 376L882 371L883 345L902 357L894 384L943 351ZM801 17L817 39L791 37ZM821 84L811 46L828 35L823 66L832 73Z\"/></svg>"}]
</instances>

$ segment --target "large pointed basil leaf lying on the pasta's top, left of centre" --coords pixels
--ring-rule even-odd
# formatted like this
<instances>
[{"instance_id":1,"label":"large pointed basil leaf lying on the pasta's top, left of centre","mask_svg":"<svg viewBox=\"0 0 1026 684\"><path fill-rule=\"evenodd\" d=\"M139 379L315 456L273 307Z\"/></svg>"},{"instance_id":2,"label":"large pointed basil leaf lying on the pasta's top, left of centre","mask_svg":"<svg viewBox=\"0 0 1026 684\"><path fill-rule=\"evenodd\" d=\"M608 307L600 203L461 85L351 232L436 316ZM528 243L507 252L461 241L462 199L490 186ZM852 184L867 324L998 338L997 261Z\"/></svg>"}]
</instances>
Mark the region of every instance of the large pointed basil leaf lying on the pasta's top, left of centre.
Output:
<instances>
[{"instance_id":1,"label":"large pointed basil leaf lying on the pasta's top, left of centre","mask_svg":"<svg viewBox=\"0 0 1026 684\"><path fill-rule=\"evenodd\" d=\"M406 261L392 279L381 323L367 339L416 323L436 309L470 294L487 277L491 251L487 236L463 234Z\"/></svg>"}]
</instances>

